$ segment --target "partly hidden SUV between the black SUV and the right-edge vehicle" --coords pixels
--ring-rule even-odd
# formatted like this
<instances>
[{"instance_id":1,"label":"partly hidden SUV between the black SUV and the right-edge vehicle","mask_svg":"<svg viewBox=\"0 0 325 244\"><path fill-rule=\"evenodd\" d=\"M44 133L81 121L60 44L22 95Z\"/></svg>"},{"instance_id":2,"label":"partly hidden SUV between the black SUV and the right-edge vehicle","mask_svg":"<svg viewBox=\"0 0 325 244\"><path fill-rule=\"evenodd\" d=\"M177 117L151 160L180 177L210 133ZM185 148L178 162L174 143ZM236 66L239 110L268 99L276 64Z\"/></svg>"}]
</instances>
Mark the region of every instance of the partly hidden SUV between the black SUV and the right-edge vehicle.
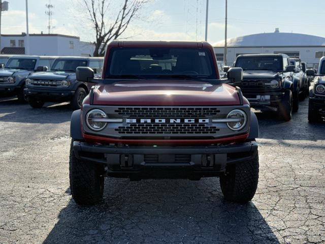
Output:
<instances>
[{"instance_id":1,"label":"partly hidden SUV between the black SUV and the right-edge vehicle","mask_svg":"<svg viewBox=\"0 0 325 244\"><path fill-rule=\"evenodd\" d=\"M306 73L302 69L300 58L290 58L290 65L295 66L294 76L299 80L299 99L304 100L309 93L309 86L307 81Z\"/></svg>"}]
</instances>

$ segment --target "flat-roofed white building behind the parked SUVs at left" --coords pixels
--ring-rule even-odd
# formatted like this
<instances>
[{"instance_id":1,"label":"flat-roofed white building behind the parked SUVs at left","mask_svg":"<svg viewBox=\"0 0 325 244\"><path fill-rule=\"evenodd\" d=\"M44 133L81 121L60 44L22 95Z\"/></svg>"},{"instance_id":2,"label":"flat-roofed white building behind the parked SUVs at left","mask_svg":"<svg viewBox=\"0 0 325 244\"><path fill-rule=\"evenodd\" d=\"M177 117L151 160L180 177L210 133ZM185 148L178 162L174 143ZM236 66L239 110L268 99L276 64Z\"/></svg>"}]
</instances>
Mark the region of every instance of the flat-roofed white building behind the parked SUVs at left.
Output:
<instances>
[{"instance_id":1,"label":"flat-roofed white building behind the parked SUVs at left","mask_svg":"<svg viewBox=\"0 0 325 244\"><path fill-rule=\"evenodd\" d=\"M1 35L2 54L26 54L26 34ZM92 56L94 44L60 34L29 34L30 55Z\"/></svg>"}]
</instances>

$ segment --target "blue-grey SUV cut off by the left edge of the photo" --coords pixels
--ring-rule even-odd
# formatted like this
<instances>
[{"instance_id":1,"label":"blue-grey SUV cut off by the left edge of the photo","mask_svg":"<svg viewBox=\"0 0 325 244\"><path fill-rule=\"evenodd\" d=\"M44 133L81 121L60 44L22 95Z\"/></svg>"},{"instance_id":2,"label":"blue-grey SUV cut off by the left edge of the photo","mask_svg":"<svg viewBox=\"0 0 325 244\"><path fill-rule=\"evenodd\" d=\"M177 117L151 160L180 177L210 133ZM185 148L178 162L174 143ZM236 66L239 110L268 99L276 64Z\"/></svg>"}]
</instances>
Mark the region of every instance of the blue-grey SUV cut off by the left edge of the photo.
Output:
<instances>
[{"instance_id":1,"label":"blue-grey SUV cut off by the left edge of the photo","mask_svg":"<svg viewBox=\"0 0 325 244\"><path fill-rule=\"evenodd\" d=\"M24 87L26 77L37 71L46 71L55 57L52 56L11 56L4 69L0 69L0 94L16 95L19 102L26 102Z\"/></svg>"}]
</instances>

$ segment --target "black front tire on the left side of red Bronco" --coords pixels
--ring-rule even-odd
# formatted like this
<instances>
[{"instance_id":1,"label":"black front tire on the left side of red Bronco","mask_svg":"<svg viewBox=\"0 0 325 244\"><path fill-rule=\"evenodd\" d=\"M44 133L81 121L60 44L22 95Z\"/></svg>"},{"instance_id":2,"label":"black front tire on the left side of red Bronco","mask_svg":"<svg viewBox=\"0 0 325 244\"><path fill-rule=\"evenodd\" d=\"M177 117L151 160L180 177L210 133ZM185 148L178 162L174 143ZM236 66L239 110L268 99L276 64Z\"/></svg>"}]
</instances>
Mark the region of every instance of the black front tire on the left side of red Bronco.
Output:
<instances>
[{"instance_id":1,"label":"black front tire on the left side of red Bronco","mask_svg":"<svg viewBox=\"0 0 325 244\"><path fill-rule=\"evenodd\" d=\"M104 166L78 160L70 147L70 189L73 199L80 205L99 203L104 192Z\"/></svg>"}]
</instances>

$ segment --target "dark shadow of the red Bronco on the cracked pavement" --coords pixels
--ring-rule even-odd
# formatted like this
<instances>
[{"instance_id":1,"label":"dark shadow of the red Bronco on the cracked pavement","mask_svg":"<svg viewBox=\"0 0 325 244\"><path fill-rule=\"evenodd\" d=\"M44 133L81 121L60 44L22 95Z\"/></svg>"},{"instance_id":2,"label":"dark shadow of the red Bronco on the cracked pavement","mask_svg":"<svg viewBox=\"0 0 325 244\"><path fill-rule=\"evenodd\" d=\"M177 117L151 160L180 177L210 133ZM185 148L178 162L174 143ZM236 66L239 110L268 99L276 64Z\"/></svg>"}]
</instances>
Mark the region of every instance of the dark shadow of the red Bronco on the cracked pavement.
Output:
<instances>
[{"instance_id":1,"label":"dark shadow of the red Bronco on the cracked pavement","mask_svg":"<svg viewBox=\"0 0 325 244\"><path fill-rule=\"evenodd\" d=\"M218 179L106 179L105 200L62 209L44 243L279 243L255 205L225 202Z\"/></svg>"}]
</instances>

